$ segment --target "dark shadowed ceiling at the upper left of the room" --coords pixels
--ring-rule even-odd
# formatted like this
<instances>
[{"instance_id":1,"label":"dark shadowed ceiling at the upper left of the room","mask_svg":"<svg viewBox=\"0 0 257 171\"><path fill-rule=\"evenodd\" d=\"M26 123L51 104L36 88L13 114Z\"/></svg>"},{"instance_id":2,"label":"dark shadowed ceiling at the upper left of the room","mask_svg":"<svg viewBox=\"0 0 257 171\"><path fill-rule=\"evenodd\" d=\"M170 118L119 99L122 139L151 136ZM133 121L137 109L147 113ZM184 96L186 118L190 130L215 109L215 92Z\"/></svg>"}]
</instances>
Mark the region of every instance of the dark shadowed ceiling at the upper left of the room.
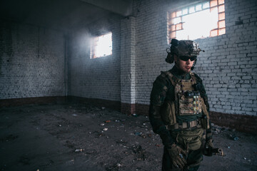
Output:
<instances>
[{"instance_id":1,"label":"dark shadowed ceiling at the upper left of the room","mask_svg":"<svg viewBox=\"0 0 257 171\"><path fill-rule=\"evenodd\" d=\"M0 18L71 31L112 15L129 16L133 0L1 0Z\"/></svg>"}]
</instances>

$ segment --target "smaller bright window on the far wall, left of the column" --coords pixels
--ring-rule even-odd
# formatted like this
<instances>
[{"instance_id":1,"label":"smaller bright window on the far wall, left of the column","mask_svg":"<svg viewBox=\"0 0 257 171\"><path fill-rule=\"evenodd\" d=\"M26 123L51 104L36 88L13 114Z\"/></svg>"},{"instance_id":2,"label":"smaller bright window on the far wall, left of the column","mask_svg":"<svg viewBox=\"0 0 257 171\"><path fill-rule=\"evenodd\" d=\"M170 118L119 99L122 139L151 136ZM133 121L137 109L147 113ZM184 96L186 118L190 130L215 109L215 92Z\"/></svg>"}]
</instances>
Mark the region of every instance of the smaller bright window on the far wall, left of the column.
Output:
<instances>
[{"instance_id":1,"label":"smaller bright window on the far wall, left of the column","mask_svg":"<svg viewBox=\"0 0 257 171\"><path fill-rule=\"evenodd\" d=\"M92 38L90 58L100 58L112 54L112 33Z\"/></svg>"}]
</instances>

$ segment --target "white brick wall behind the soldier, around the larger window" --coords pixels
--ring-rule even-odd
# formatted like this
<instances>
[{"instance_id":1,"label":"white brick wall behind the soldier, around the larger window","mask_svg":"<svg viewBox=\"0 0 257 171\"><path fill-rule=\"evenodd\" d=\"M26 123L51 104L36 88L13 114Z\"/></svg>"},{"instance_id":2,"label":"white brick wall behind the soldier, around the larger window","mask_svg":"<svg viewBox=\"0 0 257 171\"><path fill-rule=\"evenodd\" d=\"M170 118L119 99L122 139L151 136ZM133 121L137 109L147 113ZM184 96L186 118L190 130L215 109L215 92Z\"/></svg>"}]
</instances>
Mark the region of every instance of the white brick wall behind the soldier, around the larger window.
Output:
<instances>
[{"instance_id":1,"label":"white brick wall behind the soldier, around the larger window","mask_svg":"<svg viewBox=\"0 0 257 171\"><path fill-rule=\"evenodd\" d=\"M184 5L184 4L183 4ZM225 0L226 34L198 39L206 52L195 72L206 86L211 110L257 115L257 1ZM136 1L136 103L148 105L152 83L165 63L168 1Z\"/></svg>"}]
</instances>

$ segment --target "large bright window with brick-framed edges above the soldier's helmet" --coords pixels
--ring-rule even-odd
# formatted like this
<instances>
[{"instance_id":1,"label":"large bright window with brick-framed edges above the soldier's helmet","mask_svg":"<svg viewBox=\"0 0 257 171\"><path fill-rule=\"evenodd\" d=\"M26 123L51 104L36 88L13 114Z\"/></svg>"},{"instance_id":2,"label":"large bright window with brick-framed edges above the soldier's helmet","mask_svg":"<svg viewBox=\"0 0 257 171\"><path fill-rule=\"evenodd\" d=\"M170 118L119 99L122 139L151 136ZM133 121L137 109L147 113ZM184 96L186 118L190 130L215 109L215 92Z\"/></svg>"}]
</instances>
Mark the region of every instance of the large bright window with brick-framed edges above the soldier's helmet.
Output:
<instances>
[{"instance_id":1,"label":"large bright window with brick-framed edges above the soldier's helmet","mask_svg":"<svg viewBox=\"0 0 257 171\"><path fill-rule=\"evenodd\" d=\"M206 1L168 14L170 39L193 40L226 33L224 0Z\"/></svg>"}]
</instances>

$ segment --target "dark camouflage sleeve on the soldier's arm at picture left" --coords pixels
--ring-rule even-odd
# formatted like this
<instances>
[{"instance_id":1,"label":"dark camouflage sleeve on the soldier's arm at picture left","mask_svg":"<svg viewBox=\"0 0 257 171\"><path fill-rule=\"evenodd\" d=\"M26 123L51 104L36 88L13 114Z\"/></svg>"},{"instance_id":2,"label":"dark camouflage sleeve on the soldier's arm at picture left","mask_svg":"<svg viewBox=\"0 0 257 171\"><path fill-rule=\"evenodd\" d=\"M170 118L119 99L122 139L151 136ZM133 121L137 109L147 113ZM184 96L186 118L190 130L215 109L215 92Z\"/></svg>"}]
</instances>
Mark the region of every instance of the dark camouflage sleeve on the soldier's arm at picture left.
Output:
<instances>
[{"instance_id":1,"label":"dark camouflage sleeve on the soldier's arm at picture left","mask_svg":"<svg viewBox=\"0 0 257 171\"><path fill-rule=\"evenodd\" d=\"M164 76L158 76L153 83L151 90L151 104L149 109L149 120L153 128L153 132L160 135L163 145L171 145L173 139L169 131L166 129L161 120L161 105L163 105L167 92L167 81Z\"/></svg>"}]
</instances>

